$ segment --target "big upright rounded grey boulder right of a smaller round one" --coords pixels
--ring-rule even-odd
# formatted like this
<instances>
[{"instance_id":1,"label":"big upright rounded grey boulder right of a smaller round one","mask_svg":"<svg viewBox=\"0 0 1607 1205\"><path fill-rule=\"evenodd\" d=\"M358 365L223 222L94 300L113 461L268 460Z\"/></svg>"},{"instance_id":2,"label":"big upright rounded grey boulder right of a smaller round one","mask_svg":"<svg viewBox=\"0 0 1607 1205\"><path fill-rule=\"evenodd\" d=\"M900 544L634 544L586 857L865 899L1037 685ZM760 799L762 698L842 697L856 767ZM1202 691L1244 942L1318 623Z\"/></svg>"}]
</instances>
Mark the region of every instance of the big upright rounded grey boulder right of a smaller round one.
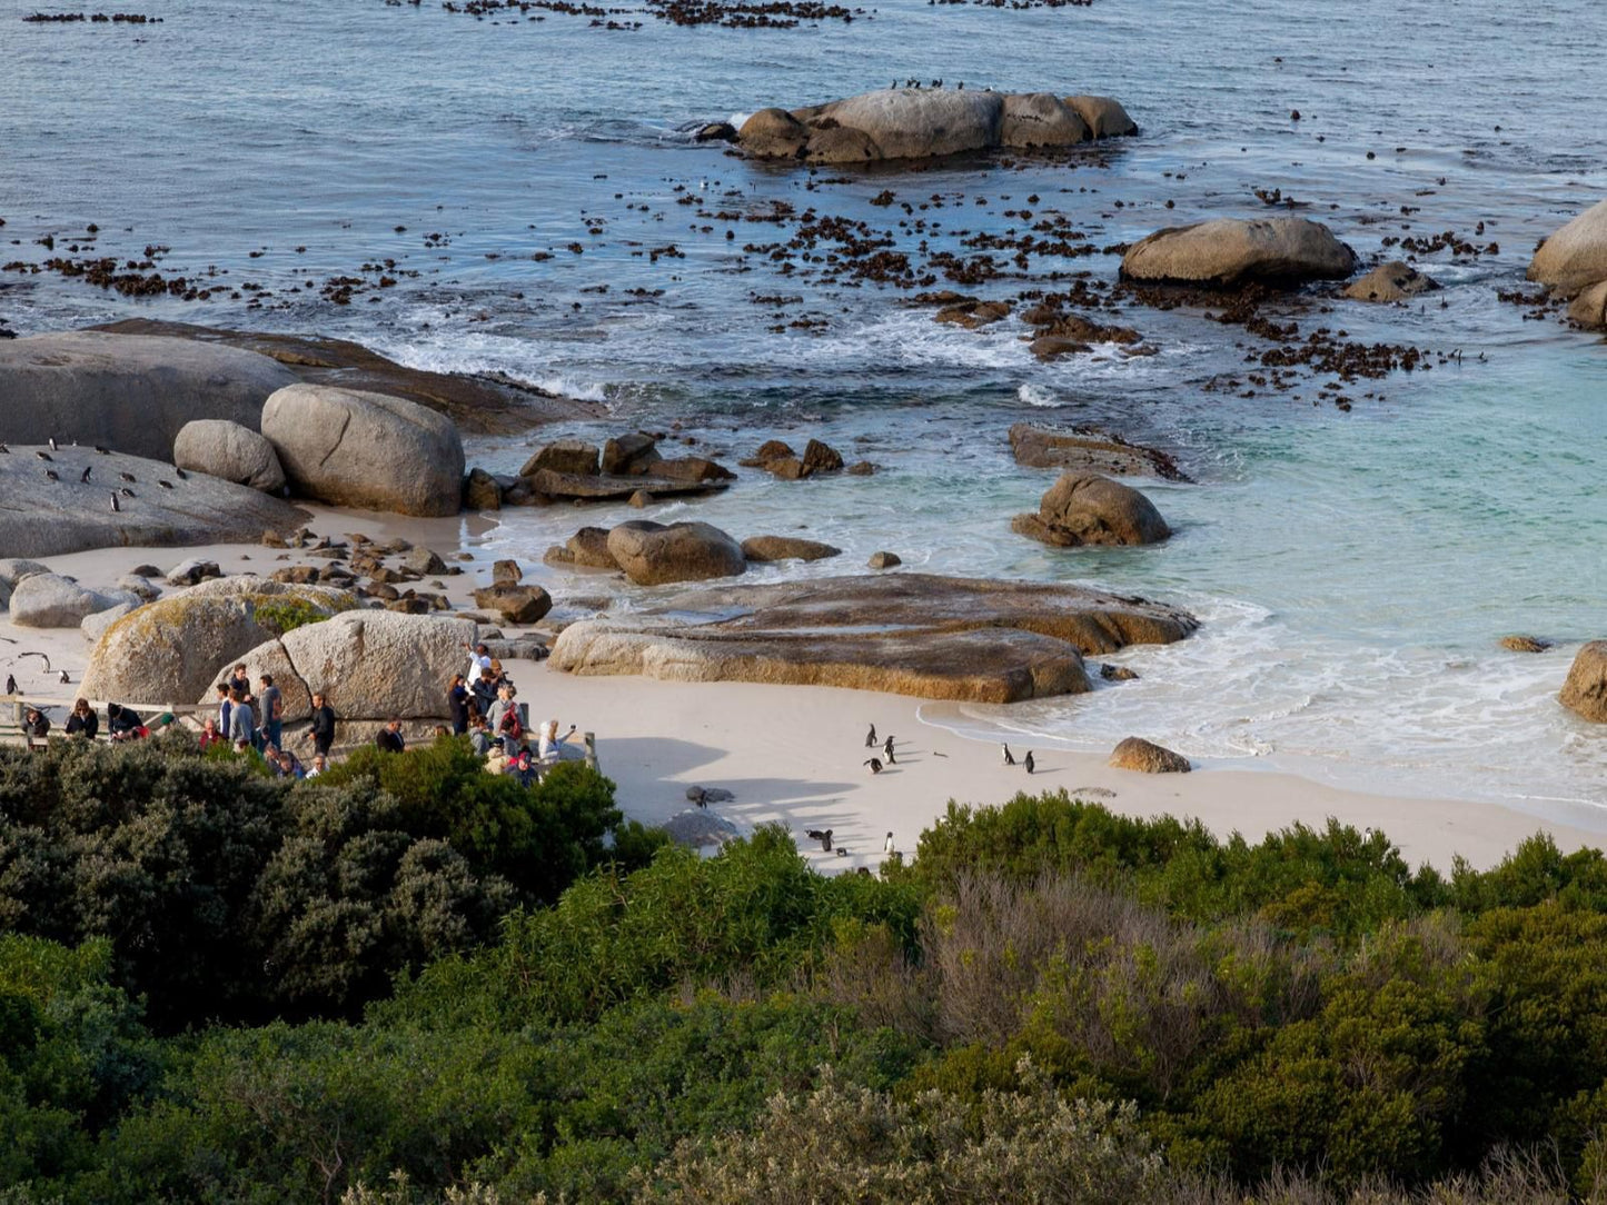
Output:
<instances>
[{"instance_id":1,"label":"big upright rounded grey boulder right of a smaller round one","mask_svg":"<svg viewBox=\"0 0 1607 1205\"><path fill-rule=\"evenodd\" d=\"M386 394L289 386L262 408L296 493L397 514L456 514L463 440L450 418Z\"/></svg>"}]
</instances>

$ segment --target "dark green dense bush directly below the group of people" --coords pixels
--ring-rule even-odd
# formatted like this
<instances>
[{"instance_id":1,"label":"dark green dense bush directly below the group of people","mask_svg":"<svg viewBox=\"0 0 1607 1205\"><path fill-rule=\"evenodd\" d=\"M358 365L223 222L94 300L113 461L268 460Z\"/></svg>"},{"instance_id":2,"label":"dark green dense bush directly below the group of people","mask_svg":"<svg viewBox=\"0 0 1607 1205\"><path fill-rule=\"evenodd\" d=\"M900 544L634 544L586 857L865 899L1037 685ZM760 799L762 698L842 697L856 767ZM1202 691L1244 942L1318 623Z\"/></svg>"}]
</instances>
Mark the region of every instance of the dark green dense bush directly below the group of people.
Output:
<instances>
[{"instance_id":1,"label":"dark green dense bush directly below the group of people","mask_svg":"<svg viewBox=\"0 0 1607 1205\"><path fill-rule=\"evenodd\" d=\"M109 938L164 1030L350 1012L611 861L612 790L583 766L524 789L458 741L305 782L182 736L6 749L0 932Z\"/></svg>"}]
</instances>

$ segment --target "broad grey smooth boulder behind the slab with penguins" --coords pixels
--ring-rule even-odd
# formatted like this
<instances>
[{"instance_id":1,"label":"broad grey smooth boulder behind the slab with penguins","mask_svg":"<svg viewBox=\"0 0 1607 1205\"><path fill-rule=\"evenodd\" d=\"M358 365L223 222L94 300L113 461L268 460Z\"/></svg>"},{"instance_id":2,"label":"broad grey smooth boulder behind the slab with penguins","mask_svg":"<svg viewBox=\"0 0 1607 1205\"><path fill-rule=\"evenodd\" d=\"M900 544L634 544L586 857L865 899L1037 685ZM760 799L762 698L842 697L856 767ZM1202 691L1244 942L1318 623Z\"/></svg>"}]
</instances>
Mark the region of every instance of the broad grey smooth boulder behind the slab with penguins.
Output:
<instances>
[{"instance_id":1,"label":"broad grey smooth boulder behind the slab with penguins","mask_svg":"<svg viewBox=\"0 0 1607 1205\"><path fill-rule=\"evenodd\" d=\"M0 442L101 445L167 460L198 418L257 426L284 365L222 344L104 331L0 341Z\"/></svg>"}]
</instances>

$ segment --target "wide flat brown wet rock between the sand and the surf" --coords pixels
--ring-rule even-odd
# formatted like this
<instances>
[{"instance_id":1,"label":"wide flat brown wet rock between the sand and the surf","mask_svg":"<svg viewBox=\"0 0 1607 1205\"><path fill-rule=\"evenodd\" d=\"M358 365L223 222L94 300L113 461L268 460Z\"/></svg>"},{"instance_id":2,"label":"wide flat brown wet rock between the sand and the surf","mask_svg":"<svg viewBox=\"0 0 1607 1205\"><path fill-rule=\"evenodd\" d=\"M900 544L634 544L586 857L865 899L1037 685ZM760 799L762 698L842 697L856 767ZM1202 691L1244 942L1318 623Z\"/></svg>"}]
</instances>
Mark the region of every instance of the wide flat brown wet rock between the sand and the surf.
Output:
<instances>
[{"instance_id":1,"label":"wide flat brown wet rock between the sand and the surf","mask_svg":"<svg viewBox=\"0 0 1607 1205\"><path fill-rule=\"evenodd\" d=\"M927 574L702 586L564 628L554 668L1016 702L1088 689L1083 656L1183 639L1191 615L1067 585Z\"/></svg>"}]
</instances>

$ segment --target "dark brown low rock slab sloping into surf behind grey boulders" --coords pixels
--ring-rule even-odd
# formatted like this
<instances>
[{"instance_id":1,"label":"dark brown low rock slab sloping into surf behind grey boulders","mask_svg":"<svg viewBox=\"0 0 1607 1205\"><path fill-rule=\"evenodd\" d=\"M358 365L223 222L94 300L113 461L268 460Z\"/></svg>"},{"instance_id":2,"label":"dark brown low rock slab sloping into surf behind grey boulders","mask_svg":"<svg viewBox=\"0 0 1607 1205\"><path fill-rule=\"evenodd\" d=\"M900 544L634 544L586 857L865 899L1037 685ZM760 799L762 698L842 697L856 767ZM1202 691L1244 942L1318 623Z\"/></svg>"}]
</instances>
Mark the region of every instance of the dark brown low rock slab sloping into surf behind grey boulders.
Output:
<instances>
[{"instance_id":1,"label":"dark brown low rock slab sloping into surf behind grey boulders","mask_svg":"<svg viewBox=\"0 0 1607 1205\"><path fill-rule=\"evenodd\" d=\"M347 339L227 331L149 318L127 318L95 329L121 334L161 334L199 344L244 349L276 360L289 373L289 378L281 384L302 381L312 386L339 386L341 389L389 394L440 411L461 431L476 435L503 435L527 431L538 423L595 418L603 413L596 403L497 376L461 376L407 368Z\"/></svg>"}]
</instances>

